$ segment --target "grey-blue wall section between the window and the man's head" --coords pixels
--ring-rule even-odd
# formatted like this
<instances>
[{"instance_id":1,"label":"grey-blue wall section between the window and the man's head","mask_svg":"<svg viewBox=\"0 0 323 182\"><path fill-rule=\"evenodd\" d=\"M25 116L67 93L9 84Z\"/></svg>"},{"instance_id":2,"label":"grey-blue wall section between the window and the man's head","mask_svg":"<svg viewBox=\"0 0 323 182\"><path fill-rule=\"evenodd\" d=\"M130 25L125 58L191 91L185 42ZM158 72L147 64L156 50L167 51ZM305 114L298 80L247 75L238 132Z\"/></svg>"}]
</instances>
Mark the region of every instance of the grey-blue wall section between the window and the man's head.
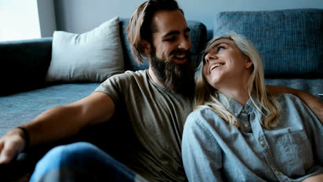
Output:
<instances>
[{"instance_id":1,"label":"grey-blue wall section between the window and the man's head","mask_svg":"<svg viewBox=\"0 0 323 182\"><path fill-rule=\"evenodd\" d=\"M131 17L145 0L55 0L57 30L86 32L112 17Z\"/></svg>"}]
</instances>

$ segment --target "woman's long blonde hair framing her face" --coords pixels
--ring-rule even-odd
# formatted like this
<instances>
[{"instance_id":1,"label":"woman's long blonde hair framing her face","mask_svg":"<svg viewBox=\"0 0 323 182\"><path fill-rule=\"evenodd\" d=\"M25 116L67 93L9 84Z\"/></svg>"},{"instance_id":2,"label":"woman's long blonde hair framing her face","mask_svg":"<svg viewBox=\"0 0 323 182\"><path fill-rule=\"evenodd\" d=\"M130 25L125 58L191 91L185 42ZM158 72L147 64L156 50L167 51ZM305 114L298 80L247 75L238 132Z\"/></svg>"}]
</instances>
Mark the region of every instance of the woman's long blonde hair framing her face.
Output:
<instances>
[{"instance_id":1,"label":"woman's long blonde hair framing her face","mask_svg":"<svg viewBox=\"0 0 323 182\"><path fill-rule=\"evenodd\" d=\"M219 117L224 119L224 121L239 126L239 122L235 116L228 112L226 107L219 102L219 90L213 88L206 81L206 78L202 72L207 51L211 48L212 43L219 39L230 39L233 41L233 43L237 45L240 52L242 52L242 54L253 62L251 67L251 75L248 79L247 85L248 95L251 101L253 101L251 94L255 94L255 98L257 98L259 105L257 106L255 101L253 101L253 103L256 105L258 113L264 116L264 119L260 120L260 123L264 126L264 128L269 130L273 125L278 123L278 118L280 116L280 105L273 96L268 94L266 90L264 83L264 68L260 54L257 52L252 43L250 43L242 35L235 32L228 32L225 36L214 38L207 43L202 54L202 61L197 68L199 70L199 76L196 78L195 110L198 108L209 108L217 113Z\"/></svg>"}]
</instances>

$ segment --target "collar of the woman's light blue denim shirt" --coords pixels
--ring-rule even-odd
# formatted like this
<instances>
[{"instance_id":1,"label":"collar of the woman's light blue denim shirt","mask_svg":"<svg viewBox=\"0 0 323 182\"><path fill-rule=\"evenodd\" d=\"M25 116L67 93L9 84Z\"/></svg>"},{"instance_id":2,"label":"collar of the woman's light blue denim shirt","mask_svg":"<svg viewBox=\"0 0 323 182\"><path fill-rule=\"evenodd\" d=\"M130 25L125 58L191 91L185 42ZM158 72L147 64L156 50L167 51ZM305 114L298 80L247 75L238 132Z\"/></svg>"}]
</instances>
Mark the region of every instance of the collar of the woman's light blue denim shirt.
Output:
<instances>
[{"instance_id":1,"label":"collar of the woman's light blue denim shirt","mask_svg":"<svg viewBox=\"0 0 323 182\"><path fill-rule=\"evenodd\" d=\"M239 114L242 112L242 110L244 110L244 112L246 112L246 114L251 113L251 112L255 112L255 111L257 111L257 107L255 106L255 104L259 105L259 103L255 97L255 94L251 94L251 98L253 99L253 101L255 101L255 104L253 103L251 98L249 98L248 101L246 102L245 106L240 104L235 99L228 97L226 94L218 93L218 95L219 95L219 101L235 117L239 116Z\"/></svg>"}]
</instances>

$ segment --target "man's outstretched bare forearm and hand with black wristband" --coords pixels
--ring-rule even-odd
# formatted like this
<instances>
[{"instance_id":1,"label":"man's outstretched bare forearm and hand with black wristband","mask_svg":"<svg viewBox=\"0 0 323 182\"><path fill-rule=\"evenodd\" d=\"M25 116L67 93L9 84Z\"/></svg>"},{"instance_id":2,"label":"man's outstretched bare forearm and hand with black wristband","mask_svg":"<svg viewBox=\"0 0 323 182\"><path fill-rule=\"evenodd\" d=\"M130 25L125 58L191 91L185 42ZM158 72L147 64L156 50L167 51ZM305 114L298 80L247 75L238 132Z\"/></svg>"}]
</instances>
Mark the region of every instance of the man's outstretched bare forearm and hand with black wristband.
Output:
<instances>
[{"instance_id":1,"label":"man's outstretched bare forearm and hand with black wristband","mask_svg":"<svg viewBox=\"0 0 323 182\"><path fill-rule=\"evenodd\" d=\"M28 123L30 145L57 141L77 134L87 125L103 123L112 117L115 104L107 94L95 92L84 99L51 108ZM0 164L9 163L26 148L23 130L14 128L0 139ZM28 147L29 147L28 146Z\"/></svg>"}]
</instances>

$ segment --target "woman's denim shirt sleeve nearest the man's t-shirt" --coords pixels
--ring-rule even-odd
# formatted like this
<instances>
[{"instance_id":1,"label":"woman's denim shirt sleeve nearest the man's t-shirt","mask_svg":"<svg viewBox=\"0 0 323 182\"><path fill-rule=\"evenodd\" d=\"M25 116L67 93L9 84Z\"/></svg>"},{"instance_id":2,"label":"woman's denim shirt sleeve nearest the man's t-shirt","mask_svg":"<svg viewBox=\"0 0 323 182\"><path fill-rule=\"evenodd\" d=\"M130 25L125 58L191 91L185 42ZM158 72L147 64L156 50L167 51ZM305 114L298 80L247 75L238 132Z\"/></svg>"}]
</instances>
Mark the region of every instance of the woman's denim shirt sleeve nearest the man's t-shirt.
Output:
<instances>
[{"instance_id":1,"label":"woman's denim shirt sleeve nearest the man's t-shirt","mask_svg":"<svg viewBox=\"0 0 323 182\"><path fill-rule=\"evenodd\" d=\"M188 181L222 181L222 149L200 112L192 112L184 126L182 159L186 176Z\"/></svg>"}]
</instances>

